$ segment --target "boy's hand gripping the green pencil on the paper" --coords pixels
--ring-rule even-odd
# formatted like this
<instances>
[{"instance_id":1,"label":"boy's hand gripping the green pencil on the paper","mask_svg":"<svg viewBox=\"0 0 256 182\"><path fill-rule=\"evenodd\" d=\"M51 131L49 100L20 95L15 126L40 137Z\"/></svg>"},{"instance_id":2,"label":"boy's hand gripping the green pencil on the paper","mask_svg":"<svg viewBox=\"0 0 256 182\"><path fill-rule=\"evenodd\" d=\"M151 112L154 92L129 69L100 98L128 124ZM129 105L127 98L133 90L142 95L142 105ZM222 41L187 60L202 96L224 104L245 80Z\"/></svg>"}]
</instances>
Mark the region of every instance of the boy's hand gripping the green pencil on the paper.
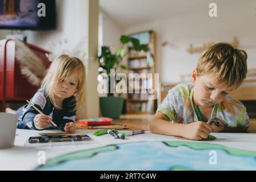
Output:
<instances>
[{"instance_id":1,"label":"boy's hand gripping the green pencil on the paper","mask_svg":"<svg viewBox=\"0 0 256 182\"><path fill-rule=\"evenodd\" d=\"M210 124L202 121L193 122L185 125L185 131L182 134L182 137L192 140L206 139L211 131L212 129Z\"/></svg>"}]
</instances>

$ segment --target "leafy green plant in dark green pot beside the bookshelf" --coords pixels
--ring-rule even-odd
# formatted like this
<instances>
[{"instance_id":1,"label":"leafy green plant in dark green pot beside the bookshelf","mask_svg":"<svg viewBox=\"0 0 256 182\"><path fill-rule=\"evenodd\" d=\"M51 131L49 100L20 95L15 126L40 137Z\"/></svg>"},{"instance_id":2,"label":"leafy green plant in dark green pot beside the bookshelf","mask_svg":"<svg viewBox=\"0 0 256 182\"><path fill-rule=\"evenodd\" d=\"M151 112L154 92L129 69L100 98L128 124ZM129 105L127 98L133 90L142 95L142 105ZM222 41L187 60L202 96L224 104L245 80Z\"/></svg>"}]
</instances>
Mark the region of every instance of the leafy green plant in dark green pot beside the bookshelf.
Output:
<instances>
[{"instance_id":1,"label":"leafy green plant in dark green pot beside the bookshelf","mask_svg":"<svg viewBox=\"0 0 256 182\"><path fill-rule=\"evenodd\" d=\"M123 59L125 59L130 51L150 51L146 44L140 44L138 39L131 38L126 35L121 36L120 42L122 46L117 48L114 53L111 52L110 47L102 46L100 55L98 56L99 73L106 73L108 77L107 97L99 98L101 113L103 117L115 119L119 118L122 113L123 97L121 97L121 94L119 94L118 97L114 97L114 93L110 92L111 89L115 89L113 88L114 85L111 84L110 81L111 69L114 69L115 72L117 71L118 67L127 69L127 65L121 65L121 62ZM127 48L126 45L129 45L129 48ZM151 52L150 55L153 57ZM118 81L114 79L114 83L117 84Z\"/></svg>"}]
</instances>

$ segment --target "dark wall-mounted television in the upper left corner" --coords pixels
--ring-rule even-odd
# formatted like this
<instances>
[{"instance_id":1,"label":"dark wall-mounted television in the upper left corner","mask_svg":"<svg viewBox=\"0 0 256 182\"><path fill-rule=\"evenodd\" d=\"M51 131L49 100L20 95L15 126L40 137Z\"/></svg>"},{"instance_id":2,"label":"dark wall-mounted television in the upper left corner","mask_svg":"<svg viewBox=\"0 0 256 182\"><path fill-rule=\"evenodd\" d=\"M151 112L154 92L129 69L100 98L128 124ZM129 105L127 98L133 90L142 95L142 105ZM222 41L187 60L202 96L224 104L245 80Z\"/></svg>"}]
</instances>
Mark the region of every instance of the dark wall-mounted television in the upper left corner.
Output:
<instances>
[{"instance_id":1,"label":"dark wall-mounted television in the upper left corner","mask_svg":"<svg viewBox=\"0 0 256 182\"><path fill-rule=\"evenodd\" d=\"M0 29L53 30L55 28L55 0L0 0Z\"/></svg>"}]
</instances>

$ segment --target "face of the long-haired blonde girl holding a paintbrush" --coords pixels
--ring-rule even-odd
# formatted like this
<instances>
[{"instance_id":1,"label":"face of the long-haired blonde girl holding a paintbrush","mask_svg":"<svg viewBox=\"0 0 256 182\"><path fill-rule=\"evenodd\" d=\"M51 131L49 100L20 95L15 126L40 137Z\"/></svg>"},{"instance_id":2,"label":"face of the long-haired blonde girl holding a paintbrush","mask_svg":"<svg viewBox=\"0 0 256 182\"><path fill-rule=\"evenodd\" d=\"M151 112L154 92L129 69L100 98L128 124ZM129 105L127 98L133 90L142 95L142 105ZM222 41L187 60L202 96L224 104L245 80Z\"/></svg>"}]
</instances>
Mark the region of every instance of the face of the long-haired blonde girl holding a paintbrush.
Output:
<instances>
[{"instance_id":1,"label":"face of the long-haired blonde girl holding a paintbrush","mask_svg":"<svg viewBox=\"0 0 256 182\"><path fill-rule=\"evenodd\" d=\"M69 98L77 92L78 76L77 73L73 72L64 80L58 81L54 87L54 95L60 100Z\"/></svg>"}]
</instances>

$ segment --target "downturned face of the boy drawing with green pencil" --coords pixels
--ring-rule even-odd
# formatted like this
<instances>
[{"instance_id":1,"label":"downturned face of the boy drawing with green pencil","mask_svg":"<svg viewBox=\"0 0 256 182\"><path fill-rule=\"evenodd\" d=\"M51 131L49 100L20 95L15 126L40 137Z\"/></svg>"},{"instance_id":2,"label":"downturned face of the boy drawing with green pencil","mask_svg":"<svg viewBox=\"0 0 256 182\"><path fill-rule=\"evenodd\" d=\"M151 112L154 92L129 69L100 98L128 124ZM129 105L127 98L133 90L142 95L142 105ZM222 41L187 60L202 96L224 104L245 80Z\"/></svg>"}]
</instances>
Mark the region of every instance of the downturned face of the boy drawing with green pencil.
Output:
<instances>
[{"instance_id":1,"label":"downturned face of the boy drawing with green pencil","mask_svg":"<svg viewBox=\"0 0 256 182\"><path fill-rule=\"evenodd\" d=\"M222 102L233 88L225 88L225 85L216 85L214 76L197 76L197 71L193 72L193 82L195 83L193 100L195 105L209 108Z\"/></svg>"}]
</instances>

